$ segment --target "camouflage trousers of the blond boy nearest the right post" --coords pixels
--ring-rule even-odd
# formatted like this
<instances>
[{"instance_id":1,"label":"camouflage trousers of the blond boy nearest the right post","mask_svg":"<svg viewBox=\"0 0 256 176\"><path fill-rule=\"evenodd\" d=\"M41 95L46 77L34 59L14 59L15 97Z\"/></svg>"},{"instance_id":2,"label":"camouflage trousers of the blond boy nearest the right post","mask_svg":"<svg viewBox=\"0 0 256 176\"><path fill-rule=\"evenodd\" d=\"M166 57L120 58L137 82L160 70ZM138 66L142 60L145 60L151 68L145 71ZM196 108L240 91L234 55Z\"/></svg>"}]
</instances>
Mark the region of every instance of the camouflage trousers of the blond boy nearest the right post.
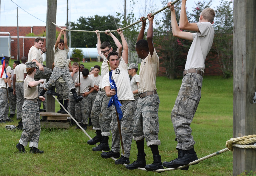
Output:
<instances>
[{"instance_id":1,"label":"camouflage trousers of the blond boy nearest the right post","mask_svg":"<svg viewBox=\"0 0 256 176\"><path fill-rule=\"evenodd\" d=\"M196 73L186 74L171 112L171 120L178 142L177 149L189 150L196 143L191 135L190 124L196 113L203 77Z\"/></svg>"}]
</instances>

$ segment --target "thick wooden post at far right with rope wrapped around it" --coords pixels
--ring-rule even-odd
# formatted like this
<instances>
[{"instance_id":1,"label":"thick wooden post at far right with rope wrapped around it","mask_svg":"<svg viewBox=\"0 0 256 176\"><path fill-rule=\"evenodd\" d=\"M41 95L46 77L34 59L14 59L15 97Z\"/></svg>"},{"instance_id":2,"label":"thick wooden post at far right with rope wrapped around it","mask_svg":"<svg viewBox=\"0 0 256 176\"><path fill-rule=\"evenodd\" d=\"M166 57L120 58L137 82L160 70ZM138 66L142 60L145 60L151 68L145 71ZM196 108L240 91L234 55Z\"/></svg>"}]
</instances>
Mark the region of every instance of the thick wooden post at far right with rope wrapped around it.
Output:
<instances>
[{"instance_id":1,"label":"thick wooden post at far right with rope wrapped around it","mask_svg":"<svg viewBox=\"0 0 256 176\"><path fill-rule=\"evenodd\" d=\"M233 137L256 134L256 1L234 0ZM256 150L233 147L233 175L256 171Z\"/></svg>"}]
</instances>

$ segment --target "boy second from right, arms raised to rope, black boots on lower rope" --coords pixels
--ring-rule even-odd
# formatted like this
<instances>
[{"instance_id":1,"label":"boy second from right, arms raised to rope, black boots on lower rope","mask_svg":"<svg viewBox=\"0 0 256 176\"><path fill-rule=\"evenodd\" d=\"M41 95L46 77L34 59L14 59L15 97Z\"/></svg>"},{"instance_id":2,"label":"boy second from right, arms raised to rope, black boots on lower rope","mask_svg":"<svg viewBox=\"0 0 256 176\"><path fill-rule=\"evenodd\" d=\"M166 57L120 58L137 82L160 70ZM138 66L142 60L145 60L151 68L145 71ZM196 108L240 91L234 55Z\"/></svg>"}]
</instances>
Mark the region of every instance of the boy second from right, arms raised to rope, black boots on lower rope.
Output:
<instances>
[{"instance_id":1,"label":"boy second from right, arms raised to rope, black boots on lower rope","mask_svg":"<svg viewBox=\"0 0 256 176\"><path fill-rule=\"evenodd\" d=\"M159 57L153 45L153 19L154 16L148 14L149 27L147 40L144 40L144 31L146 20L142 20L142 27L137 38L135 50L142 59L140 65L140 82L138 86L139 100L135 112L135 128L133 130L134 140L138 149L138 160L132 164L126 165L127 169L136 169L143 167L146 170L163 169L161 156L159 155L158 145L161 144L158 139L159 122L158 108L159 97L157 95L156 77L159 72ZM147 146L150 147L153 154L153 163L146 165L144 152L144 138Z\"/></svg>"}]
</instances>

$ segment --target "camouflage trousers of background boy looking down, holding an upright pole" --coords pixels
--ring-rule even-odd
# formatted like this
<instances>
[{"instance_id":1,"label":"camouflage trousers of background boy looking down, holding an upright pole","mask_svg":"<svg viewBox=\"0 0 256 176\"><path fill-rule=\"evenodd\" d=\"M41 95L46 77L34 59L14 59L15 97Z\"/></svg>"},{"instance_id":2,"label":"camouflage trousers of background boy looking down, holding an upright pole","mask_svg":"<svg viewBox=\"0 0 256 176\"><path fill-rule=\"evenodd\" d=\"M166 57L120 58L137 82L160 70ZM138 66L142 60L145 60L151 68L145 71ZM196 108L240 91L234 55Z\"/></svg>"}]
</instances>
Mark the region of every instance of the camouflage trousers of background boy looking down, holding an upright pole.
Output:
<instances>
[{"instance_id":1,"label":"camouflage trousers of background boy looking down, holding an upright pole","mask_svg":"<svg viewBox=\"0 0 256 176\"><path fill-rule=\"evenodd\" d=\"M78 123L88 124L88 96L83 97L82 101L75 104L76 121Z\"/></svg>"}]
</instances>

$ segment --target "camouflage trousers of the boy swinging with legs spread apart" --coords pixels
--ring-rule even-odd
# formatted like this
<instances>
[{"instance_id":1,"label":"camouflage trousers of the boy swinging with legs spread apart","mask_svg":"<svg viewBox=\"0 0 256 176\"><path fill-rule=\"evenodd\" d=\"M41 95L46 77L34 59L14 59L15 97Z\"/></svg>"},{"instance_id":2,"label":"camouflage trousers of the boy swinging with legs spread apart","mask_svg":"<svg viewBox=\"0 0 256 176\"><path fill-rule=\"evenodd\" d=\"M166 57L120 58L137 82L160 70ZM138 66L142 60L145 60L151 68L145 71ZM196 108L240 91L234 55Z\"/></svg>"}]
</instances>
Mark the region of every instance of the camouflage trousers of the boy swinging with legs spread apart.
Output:
<instances>
[{"instance_id":1,"label":"camouflage trousers of the boy swinging with legs spread apart","mask_svg":"<svg viewBox=\"0 0 256 176\"><path fill-rule=\"evenodd\" d=\"M57 67L54 67L52 75L51 75L49 81L46 82L44 88L49 90L49 88L51 88L60 77L62 77L62 79L66 82L66 84L69 88L69 91L71 91L71 89L75 89L75 85L74 85L73 79L69 73L69 70L57 68Z\"/></svg>"}]
</instances>

